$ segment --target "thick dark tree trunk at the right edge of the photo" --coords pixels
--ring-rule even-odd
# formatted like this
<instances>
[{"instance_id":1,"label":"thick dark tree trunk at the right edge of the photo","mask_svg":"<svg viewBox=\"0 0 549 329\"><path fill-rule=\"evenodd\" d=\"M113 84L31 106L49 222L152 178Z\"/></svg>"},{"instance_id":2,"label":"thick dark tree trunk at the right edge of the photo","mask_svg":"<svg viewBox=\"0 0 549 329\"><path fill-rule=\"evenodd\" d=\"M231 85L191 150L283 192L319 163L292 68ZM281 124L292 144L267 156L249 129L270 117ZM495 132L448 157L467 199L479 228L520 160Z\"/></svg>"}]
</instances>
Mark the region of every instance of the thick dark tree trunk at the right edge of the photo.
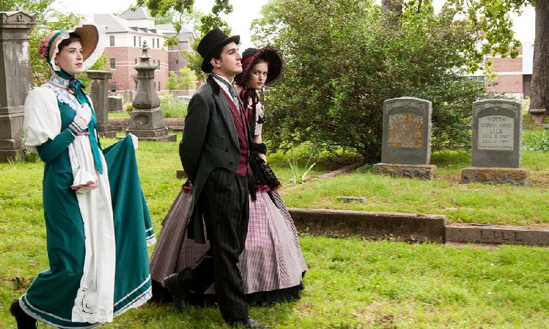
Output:
<instances>
[{"instance_id":1,"label":"thick dark tree trunk at the right edge of the photo","mask_svg":"<svg viewBox=\"0 0 549 329\"><path fill-rule=\"evenodd\" d=\"M530 109L546 109L549 112L549 0L536 0L535 10Z\"/></svg>"}]
</instances>

